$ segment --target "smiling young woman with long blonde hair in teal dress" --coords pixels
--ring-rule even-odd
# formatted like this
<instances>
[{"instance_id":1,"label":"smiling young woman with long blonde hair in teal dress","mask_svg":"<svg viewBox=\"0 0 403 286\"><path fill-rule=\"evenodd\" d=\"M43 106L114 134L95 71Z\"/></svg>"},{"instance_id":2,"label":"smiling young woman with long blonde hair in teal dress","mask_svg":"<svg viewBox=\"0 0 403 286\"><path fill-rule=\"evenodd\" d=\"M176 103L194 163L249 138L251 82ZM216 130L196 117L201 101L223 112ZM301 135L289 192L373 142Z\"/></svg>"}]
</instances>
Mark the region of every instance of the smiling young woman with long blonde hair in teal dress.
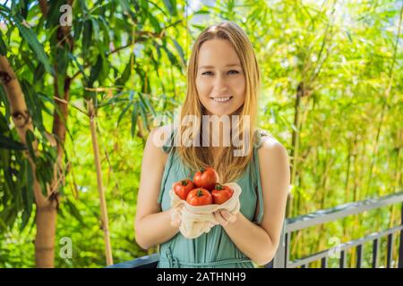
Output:
<instances>
[{"instance_id":1,"label":"smiling young woman with long blonde hair in teal dress","mask_svg":"<svg viewBox=\"0 0 403 286\"><path fill-rule=\"evenodd\" d=\"M183 138L181 124L160 147L154 137L163 127L152 130L142 158L136 241L145 249L159 245L159 267L266 265L284 228L289 164L287 149L255 128L260 71L244 30L230 21L204 29L193 46L187 85L181 122L189 115L200 122L205 115L237 115L237 123L230 121L230 134L244 139L246 151L235 156L235 146L222 144L224 128L210 133L198 129L199 139L219 139L218 147L174 144ZM171 207L169 189L206 166L217 170L220 182L235 181L241 187L240 211L215 212L218 224L186 239L179 231L183 206Z\"/></svg>"}]
</instances>

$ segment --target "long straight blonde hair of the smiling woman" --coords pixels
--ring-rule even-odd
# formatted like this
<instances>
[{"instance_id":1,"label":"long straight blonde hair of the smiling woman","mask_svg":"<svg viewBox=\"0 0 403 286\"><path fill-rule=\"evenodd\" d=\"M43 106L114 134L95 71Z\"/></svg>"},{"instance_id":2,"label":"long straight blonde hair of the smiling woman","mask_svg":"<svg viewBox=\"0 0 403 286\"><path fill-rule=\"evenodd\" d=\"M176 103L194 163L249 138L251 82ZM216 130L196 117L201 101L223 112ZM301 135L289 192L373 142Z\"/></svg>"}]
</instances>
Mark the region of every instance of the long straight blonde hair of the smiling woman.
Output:
<instances>
[{"instance_id":1,"label":"long straight blonde hair of the smiling woman","mask_svg":"<svg viewBox=\"0 0 403 286\"><path fill-rule=\"evenodd\" d=\"M185 147L184 144L180 144L178 149L178 154L181 157L184 164L186 164L190 169L195 172L203 167L213 166L217 172L219 172L220 182L234 181L242 175L248 163L253 158L253 142L255 141L254 126L257 117L257 101L258 92L260 88L261 75L259 71L259 65L256 61L256 56L253 52L253 46L249 41L248 37L236 23L232 21L224 21L217 25L212 25L204 29L199 37L196 39L192 55L189 60L187 69L187 90L186 97L184 99L184 105L182 106L180 114L180 122L183 122L184 118L188 115L195 115L196 118L200 119L201 115L206 115L205 108L201 105L201 101L197 94L196 89L196 76L198 70L198 58L201 45L206 41L211 39L223 39L227 40L236 50L241 66L244 71L246 88L245 88L245 101L235 114L239 115L239 124L236 130L239 130L239 138L245 139L244 137L244 115L249 115L250 125L246 131L249 132L249 136L246 144L248 152L246 156L234 156L233 151L235 148L233 146L224 148L221 153L218 165L213 165L213 158L209 152L209 147ZM209 126L210 128L210 126ZM234 127L231 128L231 136L234 136ZM182 139L182 133L184 132L182 124L179 123L178 132L176 136ZM200 139L202 139L201 128L199 128Z\"/></svg>"}]
</instances>

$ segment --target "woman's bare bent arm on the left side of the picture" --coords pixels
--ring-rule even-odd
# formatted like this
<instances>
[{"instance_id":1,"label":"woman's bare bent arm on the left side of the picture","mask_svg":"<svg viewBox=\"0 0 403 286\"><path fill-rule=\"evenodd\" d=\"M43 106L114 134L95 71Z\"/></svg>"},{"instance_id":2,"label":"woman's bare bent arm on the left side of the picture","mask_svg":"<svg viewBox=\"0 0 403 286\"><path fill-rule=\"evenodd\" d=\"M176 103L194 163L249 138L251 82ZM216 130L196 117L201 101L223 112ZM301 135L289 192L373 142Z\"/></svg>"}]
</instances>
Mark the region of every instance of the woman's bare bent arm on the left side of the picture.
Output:
<instances>
[{"instance_id":1,"label":"woman's bare bent arm on the left side of the picture","mask_svg":"<svg viewBox=\"0 0 403 286\"><path fill-rule=\"evenodd\" d=\"M162 128L162 127L160 127ZM135 240L144 249L170 240L179 231L178 224L171 225L175 208L161 212L158 203L159 188L167 162L167 154L153 140L158 129L150 132L141 163L140 188L134 223Z\"/></svg>"}]
</instances>

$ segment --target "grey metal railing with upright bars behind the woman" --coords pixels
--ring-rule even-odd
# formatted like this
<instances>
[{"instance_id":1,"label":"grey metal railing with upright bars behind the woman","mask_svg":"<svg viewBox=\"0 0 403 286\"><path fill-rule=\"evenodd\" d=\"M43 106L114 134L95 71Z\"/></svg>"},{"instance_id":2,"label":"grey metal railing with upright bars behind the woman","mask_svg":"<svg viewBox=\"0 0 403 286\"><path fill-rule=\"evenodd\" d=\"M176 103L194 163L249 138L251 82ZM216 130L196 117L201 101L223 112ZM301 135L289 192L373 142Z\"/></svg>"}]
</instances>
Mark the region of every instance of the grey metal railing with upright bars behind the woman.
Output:
<instances>
[{"instance_id":1,"label":"grey metal railing with upright bars behind the woman","mask_svg":"<svg viewBox=\"0 0 403 286\"><path fill-rule=\"evenodd\" d=\"M279 248L273 260L265 265L265 268L305 268L307 265L314 261L321 260L322 268L328 267L328 258L332 248L315 253L308 257L298 258L294 261L289 260L289 249L291 246L291 233L294 231L301 231L314 225L323 223L330 223L338 219L344 218L348 215L362 214L366 211L381 208L383 206L389 206L393 204L399 204L403 202L403 191L382 198L370 198L362 201L348 203L345 205L335 206L329 209L320 210L311 214L305 214L289 218L285 223L285 230L282 231L280 238ZM393 251L393 236L395 233L399 233L399 263L398 267L403 268L403 204L401 209L401 222L400 225L395 226L386 231L374 232L364 238L358 240L351 240L337 246L340 251L339 267L345 268L347 266L347 250L350 248L356 248L356 267L361 268L364 258L364 243L373 241L373 268L378 267L378 261L380 257L380 242L382 237L388 237L387 242L387 268L391 266L392 251ZM108 268L154 268L159 263L159 254L153 254L150 256L139 257L131 261L119 263L116 265L110 265Z\"/></svg>"}]
</instances>

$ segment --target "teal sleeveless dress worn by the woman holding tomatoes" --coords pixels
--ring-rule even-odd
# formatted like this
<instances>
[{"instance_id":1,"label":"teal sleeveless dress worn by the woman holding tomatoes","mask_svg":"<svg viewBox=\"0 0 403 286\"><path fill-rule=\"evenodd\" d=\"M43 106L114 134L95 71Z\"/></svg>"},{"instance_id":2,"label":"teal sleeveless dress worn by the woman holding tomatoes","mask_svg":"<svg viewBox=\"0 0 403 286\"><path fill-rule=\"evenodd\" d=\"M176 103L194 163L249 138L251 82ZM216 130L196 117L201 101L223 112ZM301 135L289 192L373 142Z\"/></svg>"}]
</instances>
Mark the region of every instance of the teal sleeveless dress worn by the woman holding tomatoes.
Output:
<instances>
[{"instance_id":1,"label":"teal sleeveless dress worn by the woman holding tomatoes","mask_svg":"<svg viewBox=\"0 0 403 286\"><path fill-rule=\"evenodd\" d=\"M169 189L175 181L192 178L187 167L181 162L173 146L172 132L166 144L162 147L168 153L159 192L159 204L162 211L171 208ZM259 175L258 152L262 145L262 134L256 130L256 143L253 144L253 161L245 168L243 174L236 180L242 188L240 196L240 212L253 223L262 223L263 200L262 185ZM254 218L256 205L259 202L259 214ZM246 257L227 235L221 225L215 225L210 232L203 233L195 239L186 239L178 232L171 240L159 246L158 268L255 268L257 265Z\"/></svg>"}]
</instances>

